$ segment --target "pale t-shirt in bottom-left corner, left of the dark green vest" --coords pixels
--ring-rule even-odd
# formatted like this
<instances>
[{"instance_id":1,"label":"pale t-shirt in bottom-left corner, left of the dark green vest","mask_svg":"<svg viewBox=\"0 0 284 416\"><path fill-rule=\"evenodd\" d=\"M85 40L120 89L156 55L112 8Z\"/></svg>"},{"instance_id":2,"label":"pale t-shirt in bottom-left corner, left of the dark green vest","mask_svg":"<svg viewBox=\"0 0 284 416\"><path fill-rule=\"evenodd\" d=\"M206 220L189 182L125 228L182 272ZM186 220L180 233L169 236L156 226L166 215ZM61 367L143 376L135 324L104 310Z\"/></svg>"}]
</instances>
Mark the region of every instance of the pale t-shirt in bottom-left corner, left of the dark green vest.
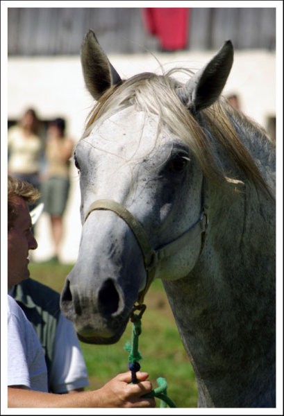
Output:
<instances>
[{"instance_id":1,"label":"pale t-shirt in bottom-left corner, left of the dark green vest","mask_svg":"<svg viewBox=\"0 0 284 416\"><path fill-rule=\"evenodd\" d=\"M17 302L8 295L8 386L47 392L47 365L40 340Z\"/></svg>"}]
</instances>

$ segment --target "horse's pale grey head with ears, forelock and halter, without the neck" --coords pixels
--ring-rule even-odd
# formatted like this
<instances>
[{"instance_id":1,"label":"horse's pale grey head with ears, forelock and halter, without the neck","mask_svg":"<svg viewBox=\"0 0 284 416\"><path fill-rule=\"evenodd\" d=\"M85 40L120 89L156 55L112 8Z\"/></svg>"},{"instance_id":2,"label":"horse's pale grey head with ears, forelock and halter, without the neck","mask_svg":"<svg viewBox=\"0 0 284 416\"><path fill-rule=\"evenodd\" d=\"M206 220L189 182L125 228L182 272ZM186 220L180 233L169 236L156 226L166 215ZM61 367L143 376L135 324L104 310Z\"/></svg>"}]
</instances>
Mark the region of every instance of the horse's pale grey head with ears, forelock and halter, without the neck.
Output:
<instances>
[{"instance_id":1,"label":"horse's pale grey head with ears, forelock and halter, without the neck","mask_svg":"<svg viewBox=\"0 0 284 416\"><path fill-rule=\"evenodd\" d=\"M200 151L192 151L188 136L199 129L199 112L219 98L233 46L225 42L185 84L151 73L122 80L93 31L81 62L98 105L74 152L82 234L61 308L81 340L108 344L122 336L153 279L180 279L199 259L208 225L206 184ZM168 105L159 96L151 102L159 88ZM183 125L187 114L193 128Z\"/></svg>"}]
</instances>

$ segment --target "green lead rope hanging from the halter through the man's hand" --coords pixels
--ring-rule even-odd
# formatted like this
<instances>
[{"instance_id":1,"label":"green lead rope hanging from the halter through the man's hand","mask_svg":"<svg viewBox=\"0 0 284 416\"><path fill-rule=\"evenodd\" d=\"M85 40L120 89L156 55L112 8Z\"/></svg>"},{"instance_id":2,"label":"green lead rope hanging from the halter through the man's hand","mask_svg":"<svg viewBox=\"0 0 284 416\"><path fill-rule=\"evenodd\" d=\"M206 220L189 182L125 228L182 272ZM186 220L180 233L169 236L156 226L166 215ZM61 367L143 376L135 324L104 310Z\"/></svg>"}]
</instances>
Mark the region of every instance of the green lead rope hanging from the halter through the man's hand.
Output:
<instances>
[{"instance_id":1,"label":"green lead rope hanging from the halter through the man's hand","mask_svg":"<svg viewBox=\"0 0 284 416\"><path fill-rule=\"evenodd\" d=\"M132 340L131 344L126 343L124 349L129 352L129 358L128 358L128 367L129 370L131 370L131 376L132 376L132 383L139 383L137 380L136 372L140 370L140 363L139 361L142 359L142 356L138 350L138 337L140 336L142 332L142 325L141 325L141 318L146 309L146 305L138 305L134 306L133 312L131 315L131 322L133 322L133 328L132 328ZM140 313L135 314L134 311L140 310ZM167 381L163 379L162 377L159 377L157 379L158 387L154 388L149 394L144 395L144 397L157 397L160 399L160 407L166 408L169 406L170 408L176 408L176 405L174 404L174 401L169 399L167 396Z\"/></svg>"}]
</instances>

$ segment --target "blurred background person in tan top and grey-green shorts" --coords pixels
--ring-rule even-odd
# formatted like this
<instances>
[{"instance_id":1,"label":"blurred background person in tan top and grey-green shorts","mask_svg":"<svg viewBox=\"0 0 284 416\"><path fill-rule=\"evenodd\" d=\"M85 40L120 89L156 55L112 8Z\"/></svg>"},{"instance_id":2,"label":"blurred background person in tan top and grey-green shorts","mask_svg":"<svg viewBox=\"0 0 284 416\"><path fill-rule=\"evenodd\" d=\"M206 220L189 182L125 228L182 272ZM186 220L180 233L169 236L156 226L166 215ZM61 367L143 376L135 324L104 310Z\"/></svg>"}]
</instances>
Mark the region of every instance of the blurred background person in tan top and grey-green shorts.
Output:
<instances>
[{"instance_id":1,"label":"blurred background person in tan top and grey-green shorts","mask_svg":"<svg viewBox=\"0 0 284 416\"><path fill-rule=\"evenodd\" d=\"M46 170L42 175L40 191L44 211L49 214L51 234L54 243L54 256L49 261L59 259L60 243L63 236L63 214L69 196L69 159L74 149L73 139L65 135L65 120L57 118L49 123L45 149Z\"/></svg>"}]
</instances>

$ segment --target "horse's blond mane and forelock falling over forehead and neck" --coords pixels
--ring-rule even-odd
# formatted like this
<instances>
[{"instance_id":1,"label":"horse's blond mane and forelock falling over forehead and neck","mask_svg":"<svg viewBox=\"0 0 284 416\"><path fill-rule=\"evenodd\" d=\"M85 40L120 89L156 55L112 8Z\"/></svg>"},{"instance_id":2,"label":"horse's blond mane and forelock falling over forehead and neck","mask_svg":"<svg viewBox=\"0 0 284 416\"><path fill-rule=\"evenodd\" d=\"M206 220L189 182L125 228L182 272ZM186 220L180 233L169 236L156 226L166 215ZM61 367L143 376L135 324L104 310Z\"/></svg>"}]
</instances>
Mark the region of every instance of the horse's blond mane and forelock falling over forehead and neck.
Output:
<instances>
[{"instance_id":1,"label":"horse's blond mane and forelock falling over forehead and neck","mask_svg":"<svg viewBox=\"0 0 284 416\"><path fill-rule=\"evenodd\" d=\"M231 184L235 191L240 191L244 184L239 177L233 176L232 169L227 171L217 155L217 145L217 148L226 151L237 171L251 180L256 189L266 191L274 199L274 189L270 189L257 162L251 156L253 144L256 146L256 141L261 141L265 148L265 157L269 159L269 153L275 145L265 130L242 112L235 110L222 96L213 105L202 110L197 117L192 116L176 94L176 89L182 86L178 80L172 78L172 73L177 71L190 73L185 69L172 69L162 76L149 72L140 73L112 85L91 110L83 137L89 134L94 121L103 121L112 114L135 105L136 110L158 115L158 130L162 125L167 125L169 130L190 146L209 180L217 184ZM249 138L246 139L247 146L243 143L244 136ZM215 141L215 146L212 141ZM249 141L251 146L248 145ZM251 148L251 153L247 147Z\"/></svg>"}]
</instances>

